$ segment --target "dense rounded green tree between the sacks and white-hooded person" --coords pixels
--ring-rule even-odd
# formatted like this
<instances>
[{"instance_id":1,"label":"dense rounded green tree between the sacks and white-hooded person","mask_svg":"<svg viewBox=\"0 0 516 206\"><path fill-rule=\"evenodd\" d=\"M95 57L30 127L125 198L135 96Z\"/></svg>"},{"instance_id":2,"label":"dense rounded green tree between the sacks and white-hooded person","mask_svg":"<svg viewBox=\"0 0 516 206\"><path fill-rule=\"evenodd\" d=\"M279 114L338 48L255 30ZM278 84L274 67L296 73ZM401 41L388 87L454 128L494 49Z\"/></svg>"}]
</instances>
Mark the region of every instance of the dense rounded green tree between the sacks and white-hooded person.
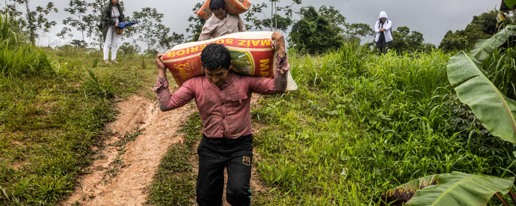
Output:
<instances>
[{"instance_id":1,"label":"dense rounded green tree between the sacks and white-hooded person","mask_svg":"<svg viewBox=\"0 0 516 206\"><path fill-rule=\"evenodd\" d=\"M313 6L302 7L301 19L294 23L289 42L292 47L306 54L322 54L340 47L346 18L333 7L322 6L317 11Z\"/></svg>"}]
</instances>

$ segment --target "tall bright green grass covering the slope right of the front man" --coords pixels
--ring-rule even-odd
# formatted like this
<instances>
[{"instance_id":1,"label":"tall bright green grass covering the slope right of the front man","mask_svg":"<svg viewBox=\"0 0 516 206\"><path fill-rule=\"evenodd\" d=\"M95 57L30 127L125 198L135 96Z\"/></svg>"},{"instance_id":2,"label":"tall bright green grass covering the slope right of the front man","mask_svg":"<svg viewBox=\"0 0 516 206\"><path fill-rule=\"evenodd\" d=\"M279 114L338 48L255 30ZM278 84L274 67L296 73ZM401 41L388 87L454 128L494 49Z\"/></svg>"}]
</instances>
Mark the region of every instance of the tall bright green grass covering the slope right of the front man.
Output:
<instances>
[{"instance_id":1,"label":"tall bright green grass covering the slope right of the front man","mask_svg":"<svg viewBox=\"0 0 516 206\"><path fill-rule=\"evenodd\" d=\"M252 111L264 125L255 149L271 189L254 204L368 205L430 174L514 176L516 146L490 135L458 100L446 76L450 55L378 56L349 44L323 56L289 56L299 90L265 98ZM483 62L506 94L514 91L513 55L508 49Z\"/></svg>"}]
</instances>

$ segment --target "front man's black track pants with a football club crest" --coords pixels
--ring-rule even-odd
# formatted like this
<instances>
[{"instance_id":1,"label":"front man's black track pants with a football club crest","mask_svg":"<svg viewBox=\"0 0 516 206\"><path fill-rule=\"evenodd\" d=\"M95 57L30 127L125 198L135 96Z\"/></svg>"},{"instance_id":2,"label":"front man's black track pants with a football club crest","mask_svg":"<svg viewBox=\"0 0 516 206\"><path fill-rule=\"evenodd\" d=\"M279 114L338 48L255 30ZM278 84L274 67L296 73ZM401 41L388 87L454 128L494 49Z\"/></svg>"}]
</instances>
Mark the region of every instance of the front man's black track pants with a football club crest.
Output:
<instances>
[{"instance_id":1,"label":"front man's black track pants with a football club crest","mask_svg":"<svg viewBox=\"0 0 516 206\"><path fill-rule=\"evenodd\" d=\"M222 204L224 167L228 171L226 200L233 206L250 205L251 160L253 136L237 139L207 138L202 136L197 147L199 174L197 176L197 203L199 206Z\"/></svg>"}]
</instances>

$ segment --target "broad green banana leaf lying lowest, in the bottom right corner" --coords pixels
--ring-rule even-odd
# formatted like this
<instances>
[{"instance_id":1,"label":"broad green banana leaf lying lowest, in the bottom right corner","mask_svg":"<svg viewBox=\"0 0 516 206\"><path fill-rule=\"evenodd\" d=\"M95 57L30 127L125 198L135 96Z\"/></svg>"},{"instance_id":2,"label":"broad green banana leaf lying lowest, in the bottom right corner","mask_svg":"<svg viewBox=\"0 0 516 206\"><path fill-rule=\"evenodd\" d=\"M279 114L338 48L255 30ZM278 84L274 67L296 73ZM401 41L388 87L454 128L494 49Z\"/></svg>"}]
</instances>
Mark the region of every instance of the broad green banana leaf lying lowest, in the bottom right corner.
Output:
<instances>
[{"instance_id":1,"label":"broad green banana leaf lying lowest, in the bottom right corner","mask_svg":"<svg viewBox=\"0 0 516 206\"><path fill-rule=\"evenodd\" d=\"M498 178L488 175L470 175L454 171L439 175L437 185L417 190L407 206L479 206L486 205L496 193L507 194L514 177Z\"/></svg>"}]
</instances>

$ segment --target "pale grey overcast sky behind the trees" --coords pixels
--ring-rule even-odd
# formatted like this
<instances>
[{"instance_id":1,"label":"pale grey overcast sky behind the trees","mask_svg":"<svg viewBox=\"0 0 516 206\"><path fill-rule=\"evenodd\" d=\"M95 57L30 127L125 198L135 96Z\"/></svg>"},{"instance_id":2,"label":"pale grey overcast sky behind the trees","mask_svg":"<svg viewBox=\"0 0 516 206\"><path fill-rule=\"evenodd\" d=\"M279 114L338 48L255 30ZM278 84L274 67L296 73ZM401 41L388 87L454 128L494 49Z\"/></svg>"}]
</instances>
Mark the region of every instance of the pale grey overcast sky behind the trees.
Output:
<instances>
[{"instance_id":1,"label":"pale grey overcast sky behind the trees","mask_svg":"<svg viewBox=\"0 0 516 206\"><path fill-rule=\"evenodd\" d=\"M94 0L86 0L92 2ZM131 15L133 11L140 11L143 7L156 8L158 12L164 13L163 23L176 33L186 33L185 29L190 22L188 16L192 14L193 6L201 1L198 0L120 0L125 4L126 15ZM33 0L30 7L44 6L49 1ZM70 0L52 0L59 9L58 13L49 14L49 19L58 24L52 28L50 34L40 39L40 44L55 46L62 44L58 42L56 34L63 25L61 21L71 14L63 9L68 7ZM268 0L251 0L253 4L268 2ZM411 30L423 33L425 42L431 42L437 46L441 42L448 30L464 29L471 22L473 15L478 15L487 10L498 7L500 0L303 0L303 4L295 5L295 8L312 5L319 8L322 5L333 6L340 10L348 23L366 23L374 26L380 11L385 11L389 20L393 22L393 27L408 26ZM278 6L292 4L292 1L282 0ZM3 1L0 4L4 6ZM270 8L270 7L269 7ZM268 14L270 15L270 13ZM259 15L263 18L263 15ZM299 19L294 16L294 19ZM78 39L78 32L76 38ZM285 33L284 35L287 35ZM130 41L125 39L124 41ZM373 40L370 40L373 41Z\"/></svg>"}]
</instances>

